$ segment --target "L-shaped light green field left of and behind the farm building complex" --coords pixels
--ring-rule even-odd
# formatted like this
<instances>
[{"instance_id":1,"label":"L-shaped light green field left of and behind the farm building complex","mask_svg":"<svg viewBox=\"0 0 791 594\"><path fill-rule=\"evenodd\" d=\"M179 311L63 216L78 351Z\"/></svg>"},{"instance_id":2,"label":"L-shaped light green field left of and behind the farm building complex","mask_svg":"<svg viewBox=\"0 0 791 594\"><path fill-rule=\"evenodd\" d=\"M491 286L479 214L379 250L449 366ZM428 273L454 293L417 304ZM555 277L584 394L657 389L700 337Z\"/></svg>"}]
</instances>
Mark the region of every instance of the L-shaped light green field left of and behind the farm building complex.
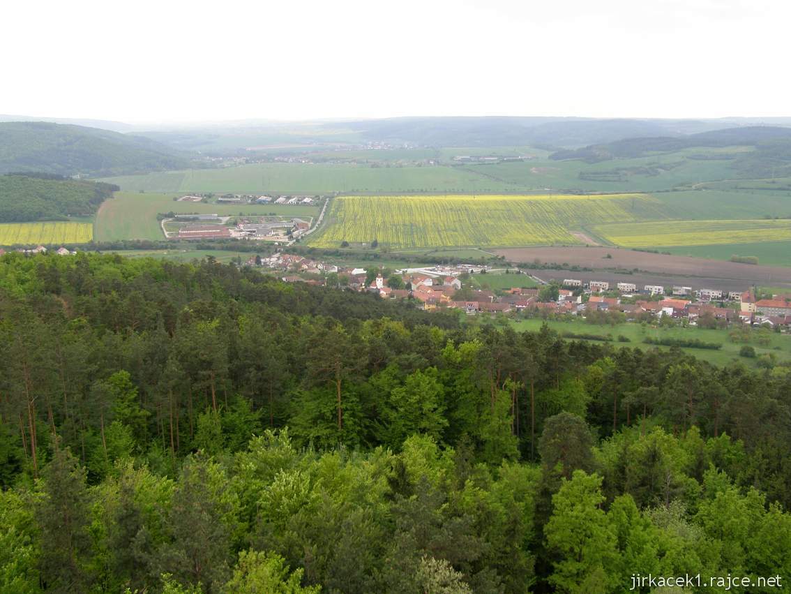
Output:
<instances>
[{"instance_id":1,"label":"L-shaped light green field left of and behind the farm building complex","mask_svg":"<svg viewBox=\"0 0 791 594\"><path fill-rule=\"evenodd\" d=\"M139 192L115 192L110 200L105 200L97 213L94 237L98 242L117 239L164 239L157 220L157 213L173 211L176 213L200 212L218 215L294 215L317 216L315 206L285 206L282 204L202 204L199 202L177 202L177 194L149 194Z\"/></svg>"}]
</instances>

